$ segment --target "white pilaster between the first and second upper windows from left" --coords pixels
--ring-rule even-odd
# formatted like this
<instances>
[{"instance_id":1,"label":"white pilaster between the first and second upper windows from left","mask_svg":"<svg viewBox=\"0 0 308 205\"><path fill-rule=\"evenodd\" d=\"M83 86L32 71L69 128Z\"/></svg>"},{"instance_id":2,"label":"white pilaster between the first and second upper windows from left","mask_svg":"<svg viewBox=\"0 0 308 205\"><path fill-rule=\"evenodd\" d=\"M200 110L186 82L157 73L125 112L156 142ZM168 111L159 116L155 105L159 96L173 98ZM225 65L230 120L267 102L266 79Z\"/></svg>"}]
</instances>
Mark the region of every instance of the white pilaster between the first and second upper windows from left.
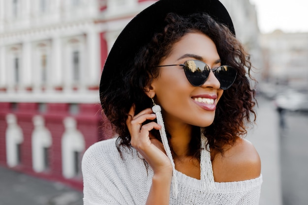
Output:
<instances>
[{"instance_id":1,"label":"white pilaster between the first and second upper windows from left","mask_svg":"<svg viewBox=\"0 0 308 205\"><path fill-rule=\"evenodd\" d=\"M32 69L31 69L31 43L25 41L23 43L22 50L22 63L20 70L21 87L31 87L32 86Z\"/></svg>"}]
</instances>

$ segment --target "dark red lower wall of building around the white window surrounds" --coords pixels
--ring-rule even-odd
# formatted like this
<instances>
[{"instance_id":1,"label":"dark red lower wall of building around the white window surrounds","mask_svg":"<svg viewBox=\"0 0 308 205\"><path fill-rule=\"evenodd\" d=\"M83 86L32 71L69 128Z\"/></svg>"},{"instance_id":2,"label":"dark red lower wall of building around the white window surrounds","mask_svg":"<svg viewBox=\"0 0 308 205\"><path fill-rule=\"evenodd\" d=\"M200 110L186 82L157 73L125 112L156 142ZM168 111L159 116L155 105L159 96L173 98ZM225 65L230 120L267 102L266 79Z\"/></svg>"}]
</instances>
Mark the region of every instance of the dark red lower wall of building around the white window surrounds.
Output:
<instances>
[{"instance_id":1,"label":"dark red lower wall of building around the white window surrounds","mask_svg":"<svg viewBox=\"0 0 308 205\"><path fill-rule=\"evenodd\" d=\"M14 106L13 106L14 105ZM62 135L65 131L63 119L73 117L77 129L82 133L86 149L95 142L113 136L109 121L101 115L98 104L79 104L79 112L71 114L69 104L49 103L44 113L38 111L37 103L0 103L0 164L6 165L5 131L7 128L6 115L12 113L23 132L24 141L21 144L21 164L12 168L34 176L64 182L82 190L82 177L66 179L62 176ZM49 149L50 169L46 172L35 173L32 169L31 136L34 130L32 118L40 115L45 120L45 127L52 135L52 146ZM102 129L103 128L103 129ZM85 149L85 150L86 150Z\"/></svg>"}]
</instances>

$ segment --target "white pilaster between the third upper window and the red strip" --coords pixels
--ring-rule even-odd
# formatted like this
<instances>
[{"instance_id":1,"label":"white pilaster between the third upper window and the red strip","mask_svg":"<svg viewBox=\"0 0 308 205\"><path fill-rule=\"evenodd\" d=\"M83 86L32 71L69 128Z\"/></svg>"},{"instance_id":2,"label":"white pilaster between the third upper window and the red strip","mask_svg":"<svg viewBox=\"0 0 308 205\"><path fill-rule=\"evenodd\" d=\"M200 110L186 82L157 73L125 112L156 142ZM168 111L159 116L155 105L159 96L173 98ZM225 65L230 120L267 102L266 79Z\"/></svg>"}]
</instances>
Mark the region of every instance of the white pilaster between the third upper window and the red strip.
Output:
<instances>
[{"instance_id":1,"label":"white pilaster between the third upper window and the red strip","mask_svg":"<svg viewBox=\"0 0 308 205\"><path fill-rule=\"evenodd\" d=\"M99 67L99 35L92 29L87 33L87 66L85 69L88 70L87 86L96 86L99 83L100 67Z\"/></svg>"}]
</instances>

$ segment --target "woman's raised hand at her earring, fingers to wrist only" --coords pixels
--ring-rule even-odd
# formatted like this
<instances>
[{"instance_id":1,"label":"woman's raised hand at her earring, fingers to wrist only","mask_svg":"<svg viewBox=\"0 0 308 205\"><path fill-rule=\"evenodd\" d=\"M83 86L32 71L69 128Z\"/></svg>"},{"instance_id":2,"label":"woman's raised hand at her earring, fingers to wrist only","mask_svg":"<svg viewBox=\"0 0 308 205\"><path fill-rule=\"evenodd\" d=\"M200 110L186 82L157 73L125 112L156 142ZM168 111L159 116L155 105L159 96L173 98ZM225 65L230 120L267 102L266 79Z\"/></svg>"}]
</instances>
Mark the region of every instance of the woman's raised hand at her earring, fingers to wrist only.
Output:
<instances>
[{"instance_id":1,"label":"woman's raised hand at her earring, fingers to wrist only","mask_svg":"<svg viewBox=\"0 0 308 205\"><path fill-rule=\"evenodd\" d=\"M131 136L131 145L144 157L154 171L155 176L172 177L172 164L167 157L161 142L151 136L152 129L159 130L161 126L156 122L142 125L147 119L153 120L156 115L151 108L141 111L137 115L132 106L126 124Z\"/></svg>"}]
</instances>

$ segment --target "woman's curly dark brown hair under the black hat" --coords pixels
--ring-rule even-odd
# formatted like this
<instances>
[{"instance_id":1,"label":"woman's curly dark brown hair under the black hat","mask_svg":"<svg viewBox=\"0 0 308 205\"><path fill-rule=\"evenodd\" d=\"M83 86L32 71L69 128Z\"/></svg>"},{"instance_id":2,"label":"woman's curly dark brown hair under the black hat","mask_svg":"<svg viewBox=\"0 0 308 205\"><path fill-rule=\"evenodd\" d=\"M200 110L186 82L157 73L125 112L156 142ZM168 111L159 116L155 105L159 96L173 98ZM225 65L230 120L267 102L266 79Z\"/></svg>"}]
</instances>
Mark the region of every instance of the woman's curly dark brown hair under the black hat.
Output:
<instances>
[{"instance_id":1,"label":"woman's curly dark brown hair under the black hat","mask_svg":"<svg viewBox=\"0 0 308 205\"><path fill-rule=\"evenodd\" d=\"M250 88L252 66L241 42L225 25L217 23L208 14L180 16L169 13L165 27L155 33L152 40L119 73L121 81L118 82L118 88L113 92L100 93L101 103L105 107L103 112L119 134L119 151L121 146L130 147L131 138L125 121L131 106L135 105L136 113L153 106L152 100L145 93L145 87L158 77L159 68L155 66L168 56L174 43L192 32L201 32L210 37L216 44L221 64L236 68L238 74L231 88L224 90L217 104L213 124L205 129L210 147L223 153L224 146L234 144L238 137L246 134L246 125L255 121L255 90ZM152 134L160 140L157 130L153 130ZM192 135L190 154L198 157L200 129L194 127Z\"/></svg>"}]
</instances>

